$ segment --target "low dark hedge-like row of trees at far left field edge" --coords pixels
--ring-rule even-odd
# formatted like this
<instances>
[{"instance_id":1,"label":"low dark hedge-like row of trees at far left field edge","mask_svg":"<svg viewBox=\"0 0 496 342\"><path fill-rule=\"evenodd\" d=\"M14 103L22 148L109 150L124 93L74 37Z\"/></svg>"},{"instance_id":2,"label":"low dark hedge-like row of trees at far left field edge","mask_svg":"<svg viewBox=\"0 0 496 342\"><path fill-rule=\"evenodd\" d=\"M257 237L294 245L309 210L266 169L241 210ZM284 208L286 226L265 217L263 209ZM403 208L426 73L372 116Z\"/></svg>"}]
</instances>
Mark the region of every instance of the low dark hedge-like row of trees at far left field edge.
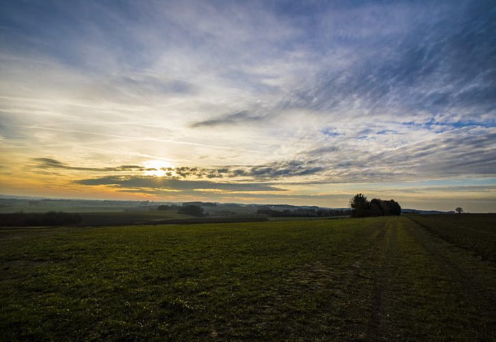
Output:
<instances>
[{"instance_id":1,"label":"low dark hedge-like row of trees at far left field edge","mask_svg":"<svg viewBox=\"0 0 496 342\"><path fill-rule=\"evenodd\" d=\"M64 213L62 211L0 214L0 226L62 226L79 222L81 222L81 215L78 213Z\"/></svg>"}]
</instances>

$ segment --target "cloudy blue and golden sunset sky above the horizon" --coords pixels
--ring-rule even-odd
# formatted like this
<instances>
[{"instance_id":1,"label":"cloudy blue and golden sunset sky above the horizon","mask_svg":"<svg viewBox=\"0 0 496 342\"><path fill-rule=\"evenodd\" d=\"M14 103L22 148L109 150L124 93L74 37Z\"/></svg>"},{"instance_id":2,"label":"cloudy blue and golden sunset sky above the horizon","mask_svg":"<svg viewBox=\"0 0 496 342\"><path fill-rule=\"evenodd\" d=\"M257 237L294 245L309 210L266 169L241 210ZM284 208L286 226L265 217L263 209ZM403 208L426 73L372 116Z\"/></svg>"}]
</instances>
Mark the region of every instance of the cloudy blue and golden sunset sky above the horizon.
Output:
<instances>
[{"instance_id":1,"label":"cloudy blue and golden sunset sky above the horizon","mask_svg":"<svg viewBox=\"0 0 496 342\"><path fill-rule=\"evenodd\" d=\"M496 211L496 3L0 0L0 193Z\"/></svg>"}]
</instances>

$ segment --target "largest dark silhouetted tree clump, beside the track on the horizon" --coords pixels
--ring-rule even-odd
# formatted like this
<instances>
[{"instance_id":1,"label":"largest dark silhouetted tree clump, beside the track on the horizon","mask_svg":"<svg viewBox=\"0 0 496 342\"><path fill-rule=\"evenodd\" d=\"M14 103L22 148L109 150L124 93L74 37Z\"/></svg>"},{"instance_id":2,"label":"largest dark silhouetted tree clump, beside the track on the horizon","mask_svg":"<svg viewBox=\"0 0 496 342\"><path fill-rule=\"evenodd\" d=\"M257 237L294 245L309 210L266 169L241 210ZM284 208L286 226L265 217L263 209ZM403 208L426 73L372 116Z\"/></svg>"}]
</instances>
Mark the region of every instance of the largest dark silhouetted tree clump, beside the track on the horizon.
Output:
<instances>
[{"instance_id":1,"label":"largest dark silhouetted tree clump, beside the track on the horizon","mask_svg":"<svg viewBox=\"0 0 496 342\"><path fill-rule=\"evenodd\" d=\"M401 215L402 207L395 200L381 200L374 198L367 200L363 194L356 194L350 200L352 218L365 218L367 216Z\"/></svg>"}]
</instances>

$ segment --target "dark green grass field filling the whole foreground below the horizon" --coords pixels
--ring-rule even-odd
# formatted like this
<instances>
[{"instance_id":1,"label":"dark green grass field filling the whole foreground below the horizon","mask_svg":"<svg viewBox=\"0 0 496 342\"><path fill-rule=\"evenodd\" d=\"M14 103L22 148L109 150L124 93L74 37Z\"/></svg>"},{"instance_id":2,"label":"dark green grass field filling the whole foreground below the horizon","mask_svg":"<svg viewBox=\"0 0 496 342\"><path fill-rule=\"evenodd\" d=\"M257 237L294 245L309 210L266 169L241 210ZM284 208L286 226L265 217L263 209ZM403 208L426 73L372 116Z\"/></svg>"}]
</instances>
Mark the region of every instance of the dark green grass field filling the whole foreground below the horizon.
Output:
<instances>
[{"instance_id":1,"label":"dark green grass field filling the whole foreground below the horizon","mask_svg":"<svg viewBox=\"0 0 496 342\"><path fill-rule=\"evenodd\" d=\"M0 339L494 341L495 223L1 228Z\"/></svg>"}]
</instances>

